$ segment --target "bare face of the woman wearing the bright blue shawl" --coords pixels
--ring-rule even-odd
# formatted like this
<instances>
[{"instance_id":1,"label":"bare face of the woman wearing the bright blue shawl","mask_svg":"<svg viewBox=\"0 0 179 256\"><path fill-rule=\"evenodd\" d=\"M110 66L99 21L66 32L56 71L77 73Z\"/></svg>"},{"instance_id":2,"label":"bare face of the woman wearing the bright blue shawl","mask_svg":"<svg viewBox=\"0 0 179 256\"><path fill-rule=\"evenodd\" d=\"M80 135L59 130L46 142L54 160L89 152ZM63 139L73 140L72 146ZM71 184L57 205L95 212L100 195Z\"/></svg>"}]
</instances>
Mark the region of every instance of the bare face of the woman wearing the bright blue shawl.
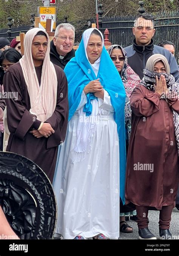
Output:
<instances>
[{"instance_id":1,"label":"bare face of the woman wearing the bright blue shawl","mask_svg":"<svg viewBox=\"0 0 179 256\"><path fill-rule=\"evenodd\" d=\"M94 64L94 62L100 57L102 48L102 38L92 32L86 47L88 60L91 64Z\"/></svg>"}]
</instances>

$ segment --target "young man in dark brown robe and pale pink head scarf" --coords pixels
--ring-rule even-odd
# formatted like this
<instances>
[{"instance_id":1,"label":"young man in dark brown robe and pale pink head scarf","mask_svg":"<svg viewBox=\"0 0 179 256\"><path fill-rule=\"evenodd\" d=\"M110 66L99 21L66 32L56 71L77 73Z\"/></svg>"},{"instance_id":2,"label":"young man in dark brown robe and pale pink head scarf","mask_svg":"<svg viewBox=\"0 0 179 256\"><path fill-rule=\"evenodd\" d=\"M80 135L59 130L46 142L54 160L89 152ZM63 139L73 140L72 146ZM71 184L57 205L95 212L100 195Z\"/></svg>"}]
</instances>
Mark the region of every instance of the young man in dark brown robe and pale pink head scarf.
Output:
<instances>
[{"instance_id":1,"label":"young man in dark brown robe and pale pink head scarf","mask_svg":"<svg viewBox=\"0 0 179 256\"><path fill-rule=\"evenodd\" d=\"M68 124L68 85L63 70L49 59L49 43L45 31L29 30L25 54L8 69L3 85L12 93L6 99L10 132L6 151L34 161L52 182L58 145L65 140Z\"/></svg>"}]
</instances>

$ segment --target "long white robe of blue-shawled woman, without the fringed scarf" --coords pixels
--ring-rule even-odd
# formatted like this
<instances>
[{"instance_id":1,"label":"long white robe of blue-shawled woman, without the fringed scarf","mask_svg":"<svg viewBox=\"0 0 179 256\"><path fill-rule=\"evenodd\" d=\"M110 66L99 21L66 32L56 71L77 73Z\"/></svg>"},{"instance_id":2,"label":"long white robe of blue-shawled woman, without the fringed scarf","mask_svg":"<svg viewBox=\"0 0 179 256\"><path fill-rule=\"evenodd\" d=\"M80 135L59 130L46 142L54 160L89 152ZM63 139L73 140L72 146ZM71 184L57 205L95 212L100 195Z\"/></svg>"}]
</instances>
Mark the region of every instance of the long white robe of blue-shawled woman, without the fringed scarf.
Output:
<instances>
[{"instance_id":1,"label":"long white robe of blue-shawled woman, without the fringed scarf","mask_svg":"<svg viewBox=\"0 0 179 256\"><path fill-rule=\"evenodd\" d=\"M107 91L104 100L91 103L98 110L91 151L84 160L73 162L79 109L86 104L83 92L57 157L53 184L58 209L56 233L64 239L99 233L110 239L119 237L119 137L114 108Z\"/></svg>"}]
</instances>

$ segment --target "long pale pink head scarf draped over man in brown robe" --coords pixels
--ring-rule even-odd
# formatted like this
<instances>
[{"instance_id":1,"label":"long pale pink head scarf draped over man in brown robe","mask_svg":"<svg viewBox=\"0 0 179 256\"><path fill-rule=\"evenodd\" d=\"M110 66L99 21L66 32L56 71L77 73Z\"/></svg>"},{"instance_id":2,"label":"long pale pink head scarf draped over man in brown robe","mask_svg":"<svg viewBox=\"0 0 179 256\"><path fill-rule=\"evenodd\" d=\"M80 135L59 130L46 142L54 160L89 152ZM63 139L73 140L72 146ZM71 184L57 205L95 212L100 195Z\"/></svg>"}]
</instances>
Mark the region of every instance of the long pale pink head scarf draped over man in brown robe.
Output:
<instances>
[{"instance_id":1,"label":"long pale pink head scarf draped over man in brown robe","mask_svg":"<svg viewBox=\"0 0 179 256\"><path fill-rule=\"evenodd\" d=\"M45 33L48 46L43 60L41 83L37 79L34 62L32 59L32 41L39 31ZM40 28L32 28L26 33L24 40L24 55L19 63L22 68L25 83L31 102L30 113L37 116L41 122L45 122L52 116L57 102L57 75L54 65L50 61L50 41L46 31Z\"/></svg>"}]
</instances>

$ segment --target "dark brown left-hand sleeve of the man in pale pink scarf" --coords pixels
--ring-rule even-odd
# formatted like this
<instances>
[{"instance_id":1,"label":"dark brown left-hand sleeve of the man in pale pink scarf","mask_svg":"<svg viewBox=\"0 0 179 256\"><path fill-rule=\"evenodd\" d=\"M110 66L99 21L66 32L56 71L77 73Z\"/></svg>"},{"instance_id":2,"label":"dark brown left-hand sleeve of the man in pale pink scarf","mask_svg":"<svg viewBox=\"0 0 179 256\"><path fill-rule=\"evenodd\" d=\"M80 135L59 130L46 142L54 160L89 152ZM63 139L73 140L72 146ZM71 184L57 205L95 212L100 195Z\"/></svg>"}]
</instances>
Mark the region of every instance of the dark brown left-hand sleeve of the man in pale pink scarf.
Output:
<instances>
[{"instance_id":1,"label":"dark brown left-hand sleeve of the man in pale pink scarf","mask_svg":"<svg viewBox=\"0 0 179 256\"><path fill-rule=\"evenodd\" d=\"M36 121L36 116L26 110L22 104L23 93L19 79L12 72L6 72L3 80L4 91L18 93L18 99L6 99L7 122L9 132L15 133L15 136L21 140Z\"/></svg>"}]
</instances>

